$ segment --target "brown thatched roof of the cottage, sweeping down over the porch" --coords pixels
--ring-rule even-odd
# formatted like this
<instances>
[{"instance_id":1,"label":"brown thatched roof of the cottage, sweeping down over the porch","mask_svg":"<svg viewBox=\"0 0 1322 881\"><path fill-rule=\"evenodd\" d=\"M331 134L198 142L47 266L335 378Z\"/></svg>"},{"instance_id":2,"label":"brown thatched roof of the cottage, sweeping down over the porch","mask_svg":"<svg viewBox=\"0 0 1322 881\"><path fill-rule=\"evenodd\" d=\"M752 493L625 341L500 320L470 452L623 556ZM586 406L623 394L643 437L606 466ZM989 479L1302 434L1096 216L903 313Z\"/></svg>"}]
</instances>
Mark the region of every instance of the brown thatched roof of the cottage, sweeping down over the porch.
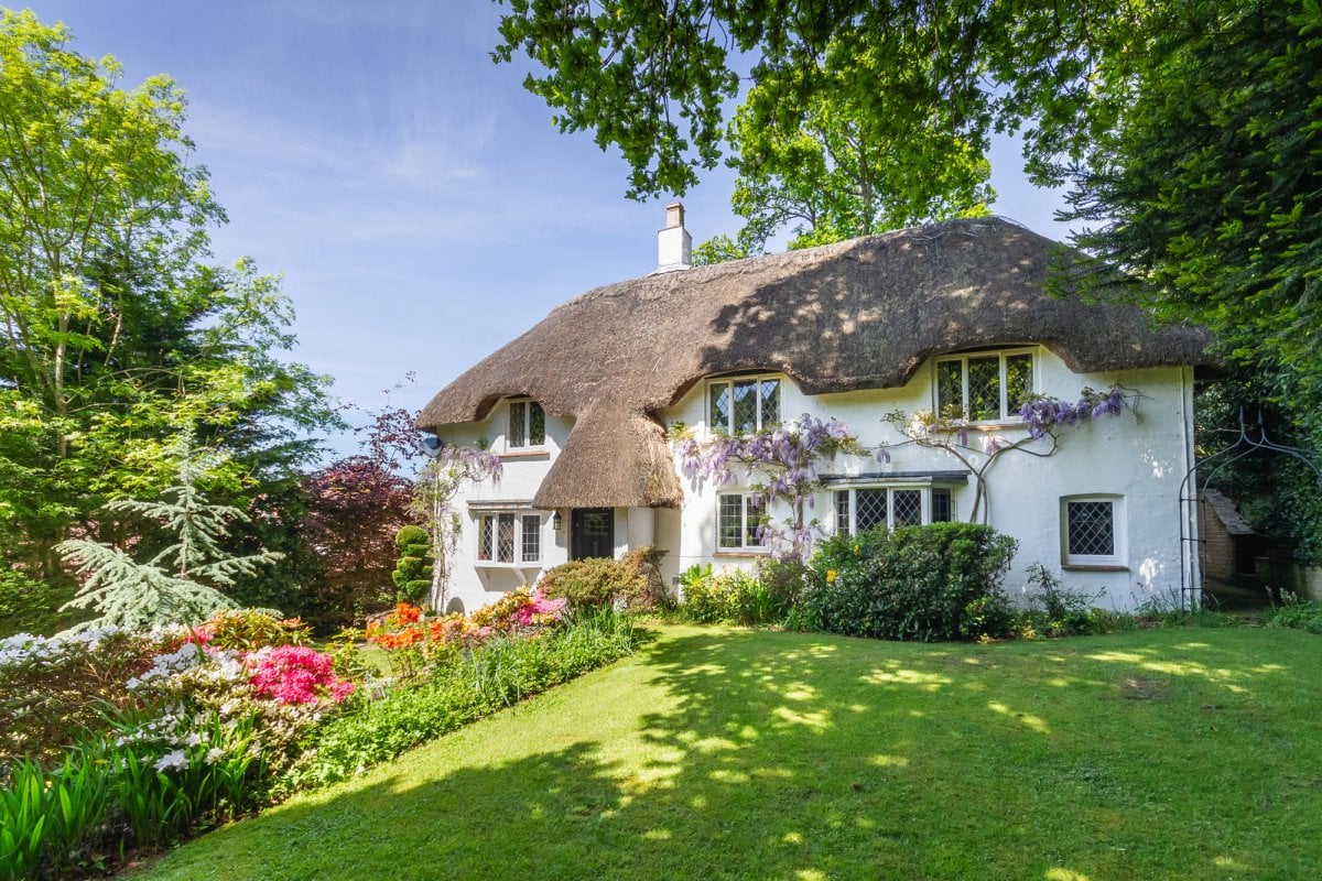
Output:
<instances>
[{"instance_id":1,"label":"brown thatched roof of the cottage, sweeping down over the porch","mask_svg":"<svg viewBox=\"0 0 1322 881\"><path fill-rule=\"evenodd\" d=\"M783 371L808 394L903 386L931 355L1043 343L1075 371L1210 365L1207 334L1136 308L1054 299L1064 248L997 218L948 221L590 291L443 388L419 428L484 419L506 395L575 417L542 509L674 506L654 413L703 376Z\"/></svg>"}]
</instances>

